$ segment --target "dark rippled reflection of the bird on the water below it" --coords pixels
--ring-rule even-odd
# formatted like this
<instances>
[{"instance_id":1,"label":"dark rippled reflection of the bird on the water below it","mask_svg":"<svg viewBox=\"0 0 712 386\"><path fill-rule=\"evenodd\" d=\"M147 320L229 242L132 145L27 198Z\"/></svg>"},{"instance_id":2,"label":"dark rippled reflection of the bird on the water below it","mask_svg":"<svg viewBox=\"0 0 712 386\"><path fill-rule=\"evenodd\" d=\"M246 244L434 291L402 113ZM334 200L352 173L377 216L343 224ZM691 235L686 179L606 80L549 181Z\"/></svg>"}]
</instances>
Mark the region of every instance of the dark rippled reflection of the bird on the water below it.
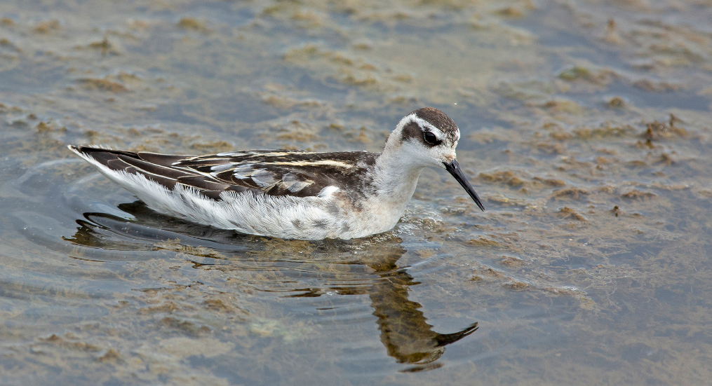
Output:
<instances>
[{"instance_id":1,"label":"dark rippled reflection of the bird on the water below it","mask_svg":"<svg viewBox=\"0 0 712 386\"><path fill-rule=\"evenodd\" d=\"M367 295L387 354L398 363L409 365L401 372L440 368L442 363L437 360L446 345L478 329L478 323L472 323L455 333L433 330L421 311L422 305L408 299L409 289L419 282L407 272L408 267L397 264L407 250L393 235L358 240L280 240L187 223L155 213L141 201L120 204L118 209L127 216L83 213L83 219L76 220L79 226L75 234L64 240L98 250L175 251L197 269L278 269L286 275L281 282L293 286L268 286L262 290L286 292L283 298L327 293ZM121 259L120 254L103 255L100 259L108 256Z\"/></svg>"}]
</instances>

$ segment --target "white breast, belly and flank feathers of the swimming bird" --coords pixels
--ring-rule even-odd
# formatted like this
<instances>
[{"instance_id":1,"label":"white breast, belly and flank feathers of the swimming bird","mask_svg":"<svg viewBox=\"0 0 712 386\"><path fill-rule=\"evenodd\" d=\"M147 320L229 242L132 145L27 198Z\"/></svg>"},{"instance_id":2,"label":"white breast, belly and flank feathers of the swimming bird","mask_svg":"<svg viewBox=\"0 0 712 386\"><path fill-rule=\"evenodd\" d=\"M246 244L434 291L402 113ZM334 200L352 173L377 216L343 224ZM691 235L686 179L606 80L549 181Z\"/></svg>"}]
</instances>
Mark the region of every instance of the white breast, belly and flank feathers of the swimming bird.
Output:
<instances>
[{"instance_id":1,"label":"white breast, belly and flank feathers of the swimming bird","mask_svg":"<svg viewBox=\"0 0 712 386\"><path fill-rule=\"evenodd\" d=\"M225 191L221 200L214 200L188 186L177 184L169 190L142 175L114 171L91 157L86 159L159 213L252 235L300 240L365 237L392 229L407 204L400 197L393 201L394 196L373 195L355 210L335 194L339 191L335 186L313 197ZM409 198L415 182L402 195Z\"/></svg>"}]
</instances>

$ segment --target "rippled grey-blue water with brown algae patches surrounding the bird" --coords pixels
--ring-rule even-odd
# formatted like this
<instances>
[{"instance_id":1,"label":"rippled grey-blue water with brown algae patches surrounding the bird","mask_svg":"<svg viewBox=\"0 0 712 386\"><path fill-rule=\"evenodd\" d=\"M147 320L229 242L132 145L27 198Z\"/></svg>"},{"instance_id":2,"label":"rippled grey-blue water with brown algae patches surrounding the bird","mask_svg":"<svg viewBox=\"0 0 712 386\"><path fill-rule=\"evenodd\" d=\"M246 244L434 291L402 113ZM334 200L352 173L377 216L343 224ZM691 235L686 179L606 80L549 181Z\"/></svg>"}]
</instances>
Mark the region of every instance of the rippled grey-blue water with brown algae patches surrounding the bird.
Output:
<instances>
[{"instance_id":1,"label":"rippled grey-blue water with brown algae patches surrounding the bird","mask_svg":"<svg viewBox=\"0 0 712 386\"><path fill-rule=\"evenodd\" d=\"M0 384L701 385L709 1L0 4ZM66 144L378 151L399 225L302 242L147 209ZM477 323L475 326L474 323ZM475 329L477 328L477 329Z\"/></svg>"}]
</instances>

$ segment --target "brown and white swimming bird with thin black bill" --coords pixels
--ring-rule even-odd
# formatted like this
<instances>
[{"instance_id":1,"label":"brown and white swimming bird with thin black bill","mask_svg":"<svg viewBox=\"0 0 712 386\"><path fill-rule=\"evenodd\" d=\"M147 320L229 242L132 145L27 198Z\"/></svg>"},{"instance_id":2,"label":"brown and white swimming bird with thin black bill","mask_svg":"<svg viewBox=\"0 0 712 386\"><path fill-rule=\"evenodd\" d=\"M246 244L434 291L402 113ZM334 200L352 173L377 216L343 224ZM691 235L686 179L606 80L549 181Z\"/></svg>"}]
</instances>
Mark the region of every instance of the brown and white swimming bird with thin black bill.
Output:
<instances>
[{"instance_id":1,"label":"brown and white swimming bird with thin black bill","mask_svg":"<svg viewBox=\"0 0 712 386\"><path fill-rule=\"evenodd\" d=\"M391 230L421 171L445 168L482 202L455 159L460 130L444 112L407 114L383 151L228 151L208 156L69 149L159 213L252 235L351 239Z\"/></svg>"}]
</instances>

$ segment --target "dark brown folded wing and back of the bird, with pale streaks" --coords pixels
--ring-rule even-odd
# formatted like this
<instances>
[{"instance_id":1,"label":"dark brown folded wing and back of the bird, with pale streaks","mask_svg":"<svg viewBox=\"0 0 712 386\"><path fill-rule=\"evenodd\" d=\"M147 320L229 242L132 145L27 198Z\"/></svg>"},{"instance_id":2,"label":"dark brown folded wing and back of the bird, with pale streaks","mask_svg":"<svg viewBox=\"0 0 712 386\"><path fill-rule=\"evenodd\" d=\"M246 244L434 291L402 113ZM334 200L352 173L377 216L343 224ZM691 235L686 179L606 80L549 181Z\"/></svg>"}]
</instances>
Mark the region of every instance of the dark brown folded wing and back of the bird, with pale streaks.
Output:
<instances>
[{"instance_id":1,"label":"dark brown folded wing and back of the bird, with pale streaks","mask_svg":"<svg viewBox=\"0 0 712 386\"><path fill-rule=\"evenodd\" d=\"M311 153L293 150L234 151L185 156L70 146L112 170L140 174L172 189L177 183L220 199L224 191L308 197L327 186L347 195L362 195L376 153L352 151Z\"/></svg>"}]
</instances>

